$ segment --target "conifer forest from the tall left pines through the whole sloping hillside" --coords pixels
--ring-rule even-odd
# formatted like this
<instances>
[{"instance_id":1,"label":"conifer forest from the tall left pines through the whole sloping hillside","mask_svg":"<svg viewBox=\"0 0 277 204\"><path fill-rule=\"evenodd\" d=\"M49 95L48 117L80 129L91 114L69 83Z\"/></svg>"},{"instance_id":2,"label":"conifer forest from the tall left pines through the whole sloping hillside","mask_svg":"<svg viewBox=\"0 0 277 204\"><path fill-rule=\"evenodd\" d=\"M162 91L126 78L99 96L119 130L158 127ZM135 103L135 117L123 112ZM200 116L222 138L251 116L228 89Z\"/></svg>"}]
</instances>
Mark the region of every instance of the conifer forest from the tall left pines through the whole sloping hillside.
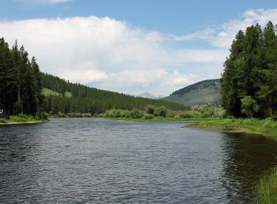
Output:
<instances>
[{"instance_id":1,"label":"conifer forest from the tall left pines through the whole sloping hillside","mask_svg":"<svg viewBox=\"0 0 277 204\"><path fill-rule=\"evenodd\" d=\"M44 96L43 88L61 94ZM72 97L66 96L66 92ZM28 59L24 46L19 48L15 41L10 48L3 37L0 39L0 112L3 115L33 115L43 111L93 114L109 109L144 110L148 104L171 110L189 109L182 104L104 91L41 73L35 57Z\"/></svg>"}]
</instances>

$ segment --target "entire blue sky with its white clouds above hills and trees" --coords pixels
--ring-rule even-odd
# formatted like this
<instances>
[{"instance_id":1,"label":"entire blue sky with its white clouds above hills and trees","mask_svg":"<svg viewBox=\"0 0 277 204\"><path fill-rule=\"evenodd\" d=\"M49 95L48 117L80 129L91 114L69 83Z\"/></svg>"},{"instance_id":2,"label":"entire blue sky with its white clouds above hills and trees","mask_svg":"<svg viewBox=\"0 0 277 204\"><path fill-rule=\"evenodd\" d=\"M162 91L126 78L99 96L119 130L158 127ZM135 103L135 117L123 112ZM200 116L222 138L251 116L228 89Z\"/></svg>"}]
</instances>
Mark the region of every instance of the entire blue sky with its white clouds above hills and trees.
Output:
<instances>
[{"instance_id":1,"label":"entire blue sky with its white clouds above hills and trees","mask_svg":"<svg viewBox=\"0 0 277 204\"><path fill-rule=\"evenodd\" d=\"M41 71L98 89L169 95L219 78L238 30L277 24L256 0L0 0L0 37Z\"/></svg>"}]
</instances>

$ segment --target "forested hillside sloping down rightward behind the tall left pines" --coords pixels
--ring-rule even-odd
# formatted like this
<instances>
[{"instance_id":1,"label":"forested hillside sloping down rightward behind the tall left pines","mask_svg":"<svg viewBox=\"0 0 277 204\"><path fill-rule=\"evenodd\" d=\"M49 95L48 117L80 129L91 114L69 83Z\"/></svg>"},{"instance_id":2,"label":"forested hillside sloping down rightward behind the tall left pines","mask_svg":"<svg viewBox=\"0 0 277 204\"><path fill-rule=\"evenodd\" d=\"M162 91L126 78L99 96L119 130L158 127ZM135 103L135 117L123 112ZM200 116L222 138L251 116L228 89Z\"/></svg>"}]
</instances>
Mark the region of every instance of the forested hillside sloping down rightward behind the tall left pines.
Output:
<instances>
[{"instance_id":1,"label":"forested hillside sloping down rightward behind the tall left pines","mask_svg":"<svg viewBox=\"0 0 277 204\"><path fill-rule=\"evenodd\" d=\"M188 107L164 100L152 100L139 98L123 93L104 91L78 83L60 79L46 73L42 73L42 85L61 95L48 95L44 100L44 111L48 113L104 113L109 109L141 109L145 106L166 106L170 110L186 110ZM72 97L67 97L70 92Z\"/></svg>"}]
</instances>

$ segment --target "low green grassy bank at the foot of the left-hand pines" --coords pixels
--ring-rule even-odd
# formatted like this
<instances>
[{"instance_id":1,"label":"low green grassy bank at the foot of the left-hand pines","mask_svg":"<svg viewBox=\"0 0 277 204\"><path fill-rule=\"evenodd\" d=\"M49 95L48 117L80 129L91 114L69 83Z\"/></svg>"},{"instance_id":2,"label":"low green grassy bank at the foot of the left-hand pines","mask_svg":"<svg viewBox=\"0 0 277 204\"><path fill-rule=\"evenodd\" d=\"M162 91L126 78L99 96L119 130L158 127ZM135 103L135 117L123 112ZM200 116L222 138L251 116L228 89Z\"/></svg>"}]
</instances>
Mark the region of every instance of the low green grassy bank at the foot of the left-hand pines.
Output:
<instances>
[{"instance_id":1,"label":"low green grassy bank at the foot of the left-hand pines","mask_svg":"<svg viewBox=\"0 0 277 204\"><path fill-rule=\"evenodd\" d=\"M6 115L4 118L0 118L0 124L32 124L39 122L48 122L46 114L40 113L37 115Z\"/></svg>"}]
</instances>

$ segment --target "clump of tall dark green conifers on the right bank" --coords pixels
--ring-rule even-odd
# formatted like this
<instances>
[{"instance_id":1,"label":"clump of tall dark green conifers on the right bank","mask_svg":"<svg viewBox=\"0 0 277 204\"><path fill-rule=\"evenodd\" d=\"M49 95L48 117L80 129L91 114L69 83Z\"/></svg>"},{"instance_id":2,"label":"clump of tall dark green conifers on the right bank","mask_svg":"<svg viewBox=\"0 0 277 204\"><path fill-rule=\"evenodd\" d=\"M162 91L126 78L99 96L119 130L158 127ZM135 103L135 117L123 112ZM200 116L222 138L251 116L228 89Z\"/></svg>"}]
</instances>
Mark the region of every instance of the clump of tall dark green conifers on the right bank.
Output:
<instances>
[{"instance_id":1,"label":"clump of tall dark green conifers on the right bank","mask_svg":"<svg viewBox=\"0 0 277 204\"><path fill-rule=\"evenodd\" d=\"M275 27L277 28L277 26ZM240 30L222 74L222 105L235 117L265 118L277 109L277 37L269 21Z\"/></svg>"}]
</instances>

